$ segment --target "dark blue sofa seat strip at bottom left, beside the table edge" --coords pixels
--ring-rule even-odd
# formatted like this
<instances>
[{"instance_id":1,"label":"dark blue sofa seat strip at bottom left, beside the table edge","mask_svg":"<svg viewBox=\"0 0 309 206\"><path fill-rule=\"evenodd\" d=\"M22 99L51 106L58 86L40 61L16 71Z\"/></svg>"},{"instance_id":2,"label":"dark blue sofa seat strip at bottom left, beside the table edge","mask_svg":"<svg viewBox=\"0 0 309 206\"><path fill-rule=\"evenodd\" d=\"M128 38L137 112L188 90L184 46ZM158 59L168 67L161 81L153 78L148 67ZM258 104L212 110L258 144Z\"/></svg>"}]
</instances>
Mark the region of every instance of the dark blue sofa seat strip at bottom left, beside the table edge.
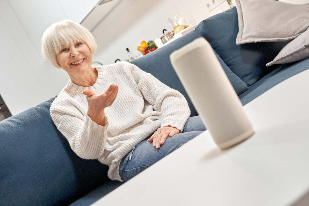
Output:
<instances>
[{"instance_id":1,"label":"dark blue sofa seat strip at bottom left, beside the table edge","mask_svg":"<svg viewBox=\"0 0 309 206\"><path fill-rule=\"evenodd\" d=\"M122 182L116 180L109 180L107 183L104 183L100 187L95 188L87 195L84 195L83 197L79 198L69 206L89 206L122 184L123 184Z\"/></svg>"}]
</instances>

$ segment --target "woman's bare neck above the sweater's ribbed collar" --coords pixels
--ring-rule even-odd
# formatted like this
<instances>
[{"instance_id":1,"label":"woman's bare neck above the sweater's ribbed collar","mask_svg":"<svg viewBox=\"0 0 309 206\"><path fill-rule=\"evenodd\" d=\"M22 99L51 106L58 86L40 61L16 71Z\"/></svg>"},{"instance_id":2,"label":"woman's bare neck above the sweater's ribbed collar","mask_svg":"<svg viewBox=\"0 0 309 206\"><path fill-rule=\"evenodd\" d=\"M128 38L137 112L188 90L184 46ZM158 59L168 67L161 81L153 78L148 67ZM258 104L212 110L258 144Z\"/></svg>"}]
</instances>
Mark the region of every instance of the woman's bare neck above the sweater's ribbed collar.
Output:
<instances>
[{"instance_id":1,"label":"woman's bare neck above the sweater's ribbed collar","mask_svg":"<svg viewBox=\"0 0 309 206\"><path fill-rule=\"evenodd\" d=\"M98 79L98 71L93 68L90 67L90 69L88 69L86 72L82 73L82 74L69 74L71 82L73 82L74 84L77 84L79 86L85 86L85 87L90 87L93 86L95 84L95 82Z\"/></svg>"}]
</instances>

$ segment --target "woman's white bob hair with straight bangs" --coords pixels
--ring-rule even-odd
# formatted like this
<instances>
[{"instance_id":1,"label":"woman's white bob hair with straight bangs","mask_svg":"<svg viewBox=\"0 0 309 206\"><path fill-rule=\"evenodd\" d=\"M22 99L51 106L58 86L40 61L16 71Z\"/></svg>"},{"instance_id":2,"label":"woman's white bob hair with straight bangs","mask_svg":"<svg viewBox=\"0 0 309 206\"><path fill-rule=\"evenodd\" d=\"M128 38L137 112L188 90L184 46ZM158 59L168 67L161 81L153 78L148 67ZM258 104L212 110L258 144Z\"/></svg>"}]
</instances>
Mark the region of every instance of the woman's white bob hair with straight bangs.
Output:
<instances>
[{"instance_id":1,"label":"woman's white bob hair with straight bangs","mask_svg":"<svg viewBox=\"0 0 309 206\"><path fill-rule=\"evenodd\" d=\"M61 68L57 65L56 54L61 51L61 48L74 45L78 41L85 42L91 54L97 49L92 34L82 25L71 20L54 23L46 29L42 36L43 56L48 63L56 68Z\"/></svg>"}]
</instances>

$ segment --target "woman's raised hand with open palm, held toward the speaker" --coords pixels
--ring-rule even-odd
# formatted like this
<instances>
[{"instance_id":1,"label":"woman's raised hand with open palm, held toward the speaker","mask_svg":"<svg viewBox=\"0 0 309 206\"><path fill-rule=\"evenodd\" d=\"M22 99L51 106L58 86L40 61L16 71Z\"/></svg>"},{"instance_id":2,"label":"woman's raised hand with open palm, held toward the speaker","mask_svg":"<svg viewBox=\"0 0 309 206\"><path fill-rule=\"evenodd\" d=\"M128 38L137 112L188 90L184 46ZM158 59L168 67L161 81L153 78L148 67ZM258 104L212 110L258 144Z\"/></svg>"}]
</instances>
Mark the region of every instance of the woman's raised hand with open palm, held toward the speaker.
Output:
<instances>
[{"instance_id":1,"label":"woman's raised hand with open palm, held toward the speaker","mask_svg":"<svg viewBox=\"0 0 309 206\"><path fill-rule=\"evenodd\" d=\"M118 86L112 84L103 94L100 95L95 95L95 93L91 90L84 90L83 94L86 95L86 99L88 102L88 116L96 124L104 127L104 109L114 103L118 94Z\"/></svg>"}]
</instances>

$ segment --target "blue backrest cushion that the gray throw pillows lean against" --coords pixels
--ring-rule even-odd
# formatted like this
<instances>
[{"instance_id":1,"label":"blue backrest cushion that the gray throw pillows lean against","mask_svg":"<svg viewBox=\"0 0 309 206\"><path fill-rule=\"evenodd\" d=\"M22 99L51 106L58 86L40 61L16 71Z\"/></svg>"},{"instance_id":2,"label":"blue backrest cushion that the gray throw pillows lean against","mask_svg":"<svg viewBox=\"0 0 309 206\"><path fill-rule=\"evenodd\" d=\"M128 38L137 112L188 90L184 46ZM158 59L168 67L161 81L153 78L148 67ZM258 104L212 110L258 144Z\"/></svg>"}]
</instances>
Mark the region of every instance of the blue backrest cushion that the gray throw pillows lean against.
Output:
<instances>
[{"instance_id":1,"label":"blue backrest cushion that the gray throw pillows lean against","mask_svg":"<svg viewBox=\"0 0 309 206\"><path fill-rule=\"evenodd\" d=\"M270 19L271 20L271 19ZM274 67L266 67L289 42L258 42L237 45L236 6L205 19L195 28L218 53L225 64L247 86L257 82Z\"/></svg>"}]
</instances>

